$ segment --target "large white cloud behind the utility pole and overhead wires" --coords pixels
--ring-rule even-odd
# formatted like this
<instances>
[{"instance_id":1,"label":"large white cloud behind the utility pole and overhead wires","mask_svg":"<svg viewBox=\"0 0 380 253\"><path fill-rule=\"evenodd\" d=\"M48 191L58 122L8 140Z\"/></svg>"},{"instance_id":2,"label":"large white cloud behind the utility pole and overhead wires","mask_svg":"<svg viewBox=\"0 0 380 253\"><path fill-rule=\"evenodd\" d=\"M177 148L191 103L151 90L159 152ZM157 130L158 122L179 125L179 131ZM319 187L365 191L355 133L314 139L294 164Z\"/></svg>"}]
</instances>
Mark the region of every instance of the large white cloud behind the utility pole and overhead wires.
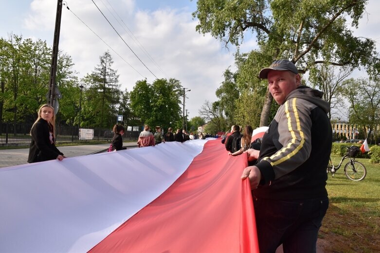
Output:
<instances>
[{"instance_id":1,"label":"large white cloud behind the utility pole and overhead wires","mask_svg":"<svg viewBox=\"0 0 380 253\"><path fill-rule=\"evenodd\" d=\"M135 44L126 32L128 29L122 28L100 1L95 2L129 47L158 78L176 78L184 87L191 89L186 93L186 109L190 117L198 115L204 101L217 100L215 90L223 81L224 70L234 64L233 52L224 50L219 41L209 34L204 36L195 31L197 21L191 16L194 10L164 7L149 11L139 8L137 2L132 0L103 0L107 5L112 4L164 74ZM123 90L127 88L130 91L136 81L144 77L148 82L154 81L155 77L128 49L91 1L76 0L68 4L75 15L142 74L129 67L64 6L59 49L72 56L80 77L91 72L99 64L99 56L109 50L114 60L113 68L120 74ZM52 44L56 2L34 0L30 6L30 13L24 20L25 29L35 34L47 32L49 36L41 39ZM116 14L114 16L117 17Z\"/></svg>"}]
</instances>

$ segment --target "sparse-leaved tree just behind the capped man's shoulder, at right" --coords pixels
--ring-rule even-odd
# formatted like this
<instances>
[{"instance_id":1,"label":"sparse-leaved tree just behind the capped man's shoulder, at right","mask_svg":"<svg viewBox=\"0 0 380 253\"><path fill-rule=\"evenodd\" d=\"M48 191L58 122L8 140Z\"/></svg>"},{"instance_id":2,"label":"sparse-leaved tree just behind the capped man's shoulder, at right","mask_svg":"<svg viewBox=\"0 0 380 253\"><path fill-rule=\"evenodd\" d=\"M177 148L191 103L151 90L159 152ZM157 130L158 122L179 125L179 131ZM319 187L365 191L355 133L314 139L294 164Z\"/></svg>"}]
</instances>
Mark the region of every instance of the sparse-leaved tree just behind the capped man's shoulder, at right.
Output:
<instances>
[{"instance_id":1,"label":"sparse-leaved tree just behind the capped man's shoulder, at right","mask_svg":"<svg viewBox=\"0 0 380 253\"><path fill-rule=\"evenodd\" d=\"M309 80L324 92L323 100L327 101L333 110L342 106L344 79L351 73L352 70L349 68L322 64L310 71ZM328 113L328 118L331 119L331 111Z\"/></svg>"}]
</instances>

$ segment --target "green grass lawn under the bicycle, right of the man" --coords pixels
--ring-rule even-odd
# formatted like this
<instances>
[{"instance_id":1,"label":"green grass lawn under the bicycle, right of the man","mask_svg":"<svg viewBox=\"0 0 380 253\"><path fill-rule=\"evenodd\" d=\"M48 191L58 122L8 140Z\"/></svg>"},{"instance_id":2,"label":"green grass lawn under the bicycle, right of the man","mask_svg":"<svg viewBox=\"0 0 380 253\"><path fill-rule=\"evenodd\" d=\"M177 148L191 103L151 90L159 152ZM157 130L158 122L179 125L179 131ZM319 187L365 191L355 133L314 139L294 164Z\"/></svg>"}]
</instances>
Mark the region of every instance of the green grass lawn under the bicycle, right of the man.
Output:
<instances>
[{"instance_id":1,"label":"green grass lawn under the bicycle, right of the man","mask_svg":"<svg viewBox=\"0 0 380 253\"><path fill-rule=\"evenodd\" d=\"M342 157L331 156L334 165ZM320 238L328 241L326 252L380 251L380 165L358 158L367 169L359 182L344 175L344 164L328 175L327 192L330 206L323 220ZM346 160L348 161L348 160Z\"/></svg>"}]
</instances>

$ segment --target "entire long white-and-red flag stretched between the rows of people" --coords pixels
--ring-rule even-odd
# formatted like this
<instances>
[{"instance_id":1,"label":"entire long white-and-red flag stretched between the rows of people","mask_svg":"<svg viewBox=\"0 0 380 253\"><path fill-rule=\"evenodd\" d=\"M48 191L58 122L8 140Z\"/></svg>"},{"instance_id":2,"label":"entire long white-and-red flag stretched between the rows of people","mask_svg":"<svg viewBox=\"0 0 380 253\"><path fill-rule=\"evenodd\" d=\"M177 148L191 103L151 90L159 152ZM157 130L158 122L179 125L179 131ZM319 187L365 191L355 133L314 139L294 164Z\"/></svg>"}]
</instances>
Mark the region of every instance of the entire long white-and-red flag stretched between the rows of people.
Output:
<instances>
[{"instance_id":1,"label":"entire long white-and-red flag stretched between the rows of people","mask_svg":"<svg viewBox=\"0 0 380 253\"><path fill-rule=\"evenodd\" d=\"M0 169L0 252L258 252L245 155L220 140Z\"/></svg>"}]
</instances>

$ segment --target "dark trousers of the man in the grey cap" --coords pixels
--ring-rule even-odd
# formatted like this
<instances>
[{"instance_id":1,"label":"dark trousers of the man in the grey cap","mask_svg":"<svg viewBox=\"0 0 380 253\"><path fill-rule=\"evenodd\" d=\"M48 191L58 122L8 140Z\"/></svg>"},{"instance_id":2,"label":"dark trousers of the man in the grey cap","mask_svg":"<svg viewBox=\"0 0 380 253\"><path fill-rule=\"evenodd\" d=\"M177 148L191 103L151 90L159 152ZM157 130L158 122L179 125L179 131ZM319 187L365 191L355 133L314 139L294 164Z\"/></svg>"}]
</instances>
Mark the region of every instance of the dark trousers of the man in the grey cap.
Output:
<instances>
[{"instance_id":1,"label":"dark trousers of the man in the grey cap","mask_svg":"<svg viewBox=\"0 0 380 253\"><path fill-rule=\"evenodd\" d=\"M260 253L315 253L319 228L328 208L328 198L277 201L253 196Z\"/></svg>"}]
</instances>

